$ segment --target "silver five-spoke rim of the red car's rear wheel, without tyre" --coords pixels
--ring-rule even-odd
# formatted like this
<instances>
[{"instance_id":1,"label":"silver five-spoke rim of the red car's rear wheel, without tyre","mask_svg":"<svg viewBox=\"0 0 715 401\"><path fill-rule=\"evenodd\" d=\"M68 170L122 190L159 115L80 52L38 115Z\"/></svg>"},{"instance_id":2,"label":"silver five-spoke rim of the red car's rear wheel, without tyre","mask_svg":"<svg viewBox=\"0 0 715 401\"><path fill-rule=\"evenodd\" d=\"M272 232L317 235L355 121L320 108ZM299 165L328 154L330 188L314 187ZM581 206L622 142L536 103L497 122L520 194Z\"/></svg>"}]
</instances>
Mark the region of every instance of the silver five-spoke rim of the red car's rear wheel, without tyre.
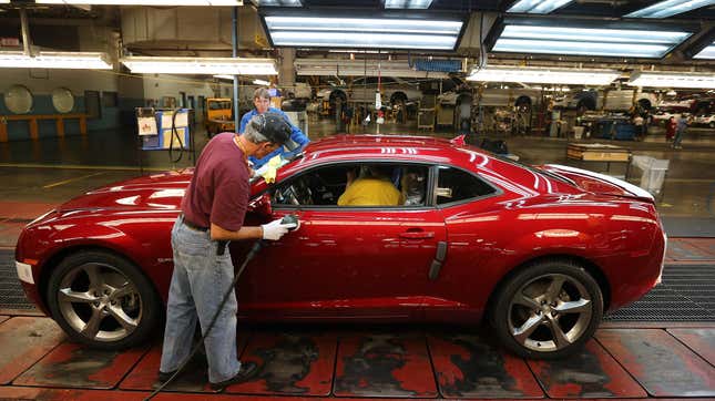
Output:
<instances>
[{"instance_id":1,"label":"silver five-spoke rim of the red car's rear wheel, without tyre","mask_svg":"<svg viewBox=\"0 0 715 401\"><path fill-rule=\"evenodd\" d=\"M539 276L523 285L509 304L509 330L524 348L564 349L589 328L593 302L583 284L562 274Z\"/></svg>"}]
</instances>

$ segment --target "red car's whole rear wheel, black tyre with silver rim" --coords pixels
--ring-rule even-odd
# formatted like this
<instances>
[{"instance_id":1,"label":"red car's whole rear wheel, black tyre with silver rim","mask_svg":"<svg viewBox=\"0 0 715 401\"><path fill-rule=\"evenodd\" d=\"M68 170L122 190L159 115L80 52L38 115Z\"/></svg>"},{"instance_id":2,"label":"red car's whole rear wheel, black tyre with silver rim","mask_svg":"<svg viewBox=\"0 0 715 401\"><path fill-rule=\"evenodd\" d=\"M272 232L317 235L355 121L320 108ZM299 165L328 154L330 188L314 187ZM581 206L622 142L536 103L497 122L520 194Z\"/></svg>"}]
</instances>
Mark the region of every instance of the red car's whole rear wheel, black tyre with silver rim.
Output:
<instances>
[{"instance_id":1,"label":"red car's whole rear wheel, black tyre with silver rim","mask_svg":"<svg viewBox=\"0 0 715 401\"><path fill-rule=\"evenodd\" d=\"M550 291L551 287L558 290ZM500 342L522 358L559 359L576 352L603 318L601 288L583 267L570 260L527 266L498 291L489 311L491 326Z\"/></svg>"}]
</instances>

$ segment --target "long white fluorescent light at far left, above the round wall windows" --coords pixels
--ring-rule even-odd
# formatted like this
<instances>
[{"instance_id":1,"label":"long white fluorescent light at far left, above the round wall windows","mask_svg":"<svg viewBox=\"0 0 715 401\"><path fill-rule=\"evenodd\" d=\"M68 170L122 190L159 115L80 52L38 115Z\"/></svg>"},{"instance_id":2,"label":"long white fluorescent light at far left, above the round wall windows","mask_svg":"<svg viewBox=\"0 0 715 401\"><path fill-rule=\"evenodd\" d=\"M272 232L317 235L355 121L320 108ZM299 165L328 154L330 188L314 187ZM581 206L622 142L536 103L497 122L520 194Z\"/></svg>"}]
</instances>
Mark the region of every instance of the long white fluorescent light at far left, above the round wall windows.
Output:
<instances>
[{"instance_id":1,"label":"long white fluorescent light at far left, above the round wall windows","mask_svg":"<svg viewBox=\"0 0 715 401\"><path fill-rule=\"evenodd\" d=\"M68 69L111 70L106 53L94 52L39 52L33 56L21 51L0 52L0 68L10 69Z\"/></svg>"}]
</instances>

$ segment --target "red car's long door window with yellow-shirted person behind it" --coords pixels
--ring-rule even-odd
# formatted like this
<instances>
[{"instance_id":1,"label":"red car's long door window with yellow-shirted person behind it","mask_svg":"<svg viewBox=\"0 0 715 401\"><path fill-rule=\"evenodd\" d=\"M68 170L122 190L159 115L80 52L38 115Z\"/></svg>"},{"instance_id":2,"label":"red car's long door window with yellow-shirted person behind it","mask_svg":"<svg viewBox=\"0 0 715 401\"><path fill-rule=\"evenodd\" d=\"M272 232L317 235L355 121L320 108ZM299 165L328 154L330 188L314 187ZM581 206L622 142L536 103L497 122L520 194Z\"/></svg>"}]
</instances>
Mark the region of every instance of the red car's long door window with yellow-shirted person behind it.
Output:
<instances>
[{"instance_id":1,"label":"red car's long door window with yellow-shirted person behind it","mask_svg":"<svg viewBox=\"0 0 715 401\"><path fill-rule=\"evenodd\" d=\"M429 168L399 163L351 163L314 168L278 184L275 206L406 207L427 205Z\"/></svg>"}]
</instances>

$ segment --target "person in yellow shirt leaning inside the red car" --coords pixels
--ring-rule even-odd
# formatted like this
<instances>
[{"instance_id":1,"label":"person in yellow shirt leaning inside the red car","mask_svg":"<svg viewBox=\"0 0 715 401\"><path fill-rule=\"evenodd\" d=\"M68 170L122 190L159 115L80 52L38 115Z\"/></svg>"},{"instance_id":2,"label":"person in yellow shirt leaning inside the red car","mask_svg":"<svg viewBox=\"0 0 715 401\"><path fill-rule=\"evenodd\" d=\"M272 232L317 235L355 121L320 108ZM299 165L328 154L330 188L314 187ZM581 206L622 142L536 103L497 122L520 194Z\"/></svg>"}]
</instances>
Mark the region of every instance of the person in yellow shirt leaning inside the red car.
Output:
<instances>
[{"instance_id":1,"label":"person in yellow shirt leaning inside the red car","mask_svg":"<svg viewBox=\"0 0 715 401\"><path fill-rule=\"evenodd\" d=\"M348 183L338 198L338 206L398 206L404 203L402 194L389 178L390 169L380 165L366 168L355 179L355 172L348 171Z\"/></svg>"}]
</instances>

